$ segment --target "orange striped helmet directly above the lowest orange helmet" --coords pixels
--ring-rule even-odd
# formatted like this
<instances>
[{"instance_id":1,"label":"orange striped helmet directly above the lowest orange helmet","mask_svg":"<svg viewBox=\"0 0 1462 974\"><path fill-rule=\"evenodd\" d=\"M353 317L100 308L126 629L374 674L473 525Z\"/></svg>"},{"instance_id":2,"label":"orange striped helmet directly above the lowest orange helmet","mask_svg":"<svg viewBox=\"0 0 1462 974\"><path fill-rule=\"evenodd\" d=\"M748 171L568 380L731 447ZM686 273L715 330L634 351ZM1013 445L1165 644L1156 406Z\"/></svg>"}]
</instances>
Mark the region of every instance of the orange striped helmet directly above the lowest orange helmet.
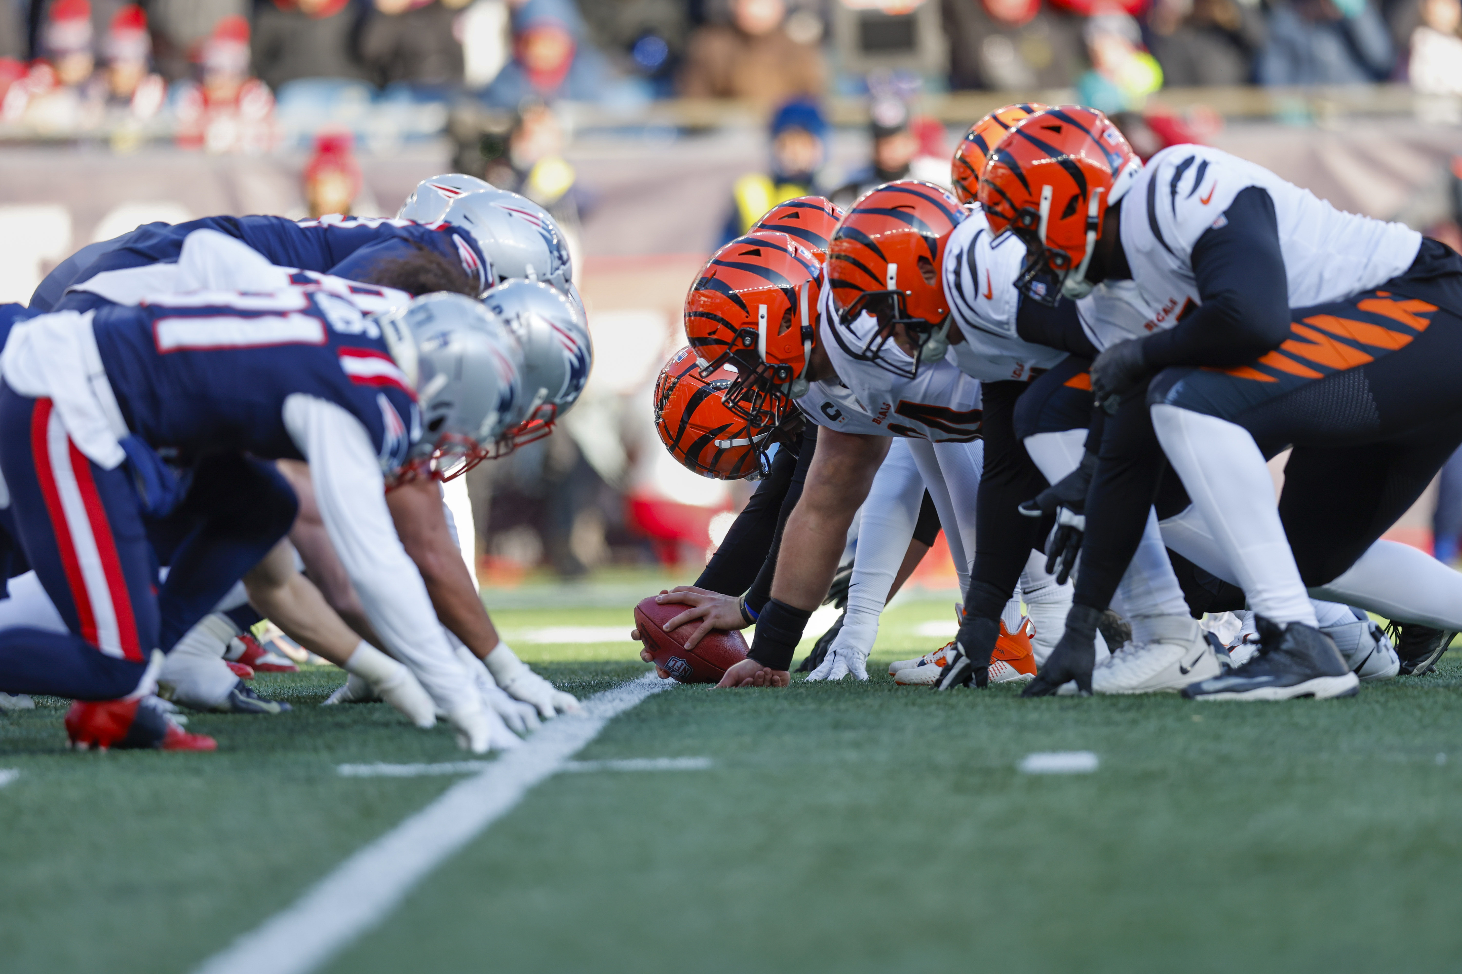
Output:
<instances>
[{"instance_id":1,"label":"orange striped helmet directly above the lowest orange helmet","mask_svg":"<svg viewBox=\"0 0 1462 974\"><path fill-rule=\"evenodd\" d=\"M686 295L686 339L703 375L735 367L727 409L775 425L806 394L820 296L822 264L787 234L753 231L711 257Z\"/></svg>"}]
</instances>

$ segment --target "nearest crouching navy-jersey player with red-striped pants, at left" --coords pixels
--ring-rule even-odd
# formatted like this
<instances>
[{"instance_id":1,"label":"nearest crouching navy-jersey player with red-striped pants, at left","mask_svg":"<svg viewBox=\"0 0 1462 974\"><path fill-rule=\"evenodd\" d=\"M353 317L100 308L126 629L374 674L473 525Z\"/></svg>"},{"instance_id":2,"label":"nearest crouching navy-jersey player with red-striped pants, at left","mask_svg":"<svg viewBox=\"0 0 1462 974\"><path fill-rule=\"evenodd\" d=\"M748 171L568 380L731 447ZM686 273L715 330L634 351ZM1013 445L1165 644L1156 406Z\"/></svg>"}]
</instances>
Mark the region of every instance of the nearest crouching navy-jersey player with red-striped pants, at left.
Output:
<instances>
[{"instance_id":1,"label":"nearest crouching navy-jersey player with red-striped pants, at left","mask_svg":"<svg viewBox=\"0 0 1462 974\"><path fill-rule=\"evenodd\" d=\"M507 732L436 625L385 480L496 437L520 358L452 294L367 317L308 288L200 292L22 323L3 358L0 470L69 632L0 632L0 685L77 699L80 746L211 749L156 704L156 670L289 530L295 498L268 460L297 459L386 648L485 751ZM170 532L173 571L154 588L152 539Z\"/></svg>"}]
</instances>

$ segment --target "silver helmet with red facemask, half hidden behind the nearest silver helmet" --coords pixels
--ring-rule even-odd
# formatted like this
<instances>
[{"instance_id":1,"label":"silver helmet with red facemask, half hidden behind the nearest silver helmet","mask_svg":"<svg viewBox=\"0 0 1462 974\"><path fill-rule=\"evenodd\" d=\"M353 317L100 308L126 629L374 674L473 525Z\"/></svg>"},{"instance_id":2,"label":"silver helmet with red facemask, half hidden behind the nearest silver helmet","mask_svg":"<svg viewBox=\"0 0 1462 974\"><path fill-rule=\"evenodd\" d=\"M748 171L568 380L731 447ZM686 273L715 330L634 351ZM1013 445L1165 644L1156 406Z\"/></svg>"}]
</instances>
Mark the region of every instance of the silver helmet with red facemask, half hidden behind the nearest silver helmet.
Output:
<instances>
[{"instance_id":1,"label":"silver helmet with red facemask, half hidden behind the nearest silver helmet","mask_svg":"<svg viewBox=\"0 0 1462 974\"><path fill-rule=\"evenodd\" d=\"M506 435L512 445L541 440L589 380L589 329L569 298L537 280L504 280L482 296L482 304L523 349L522 396Z\"/></svg>"}]
</instances>

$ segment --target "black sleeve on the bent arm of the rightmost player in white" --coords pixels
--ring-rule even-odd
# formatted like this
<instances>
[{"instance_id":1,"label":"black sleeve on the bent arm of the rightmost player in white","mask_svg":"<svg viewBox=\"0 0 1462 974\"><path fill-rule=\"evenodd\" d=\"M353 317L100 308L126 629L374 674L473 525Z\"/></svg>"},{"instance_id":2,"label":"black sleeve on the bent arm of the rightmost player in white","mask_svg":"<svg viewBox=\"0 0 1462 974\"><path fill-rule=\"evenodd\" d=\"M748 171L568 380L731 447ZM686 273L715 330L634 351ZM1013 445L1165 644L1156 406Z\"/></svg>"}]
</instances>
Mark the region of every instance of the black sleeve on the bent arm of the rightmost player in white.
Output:
<instances>
[{"instance_id":1,"label":"black sleeve on the bent arm of the rightmost player in white","mask_svg":"<svg viewBox=\"0 0 1462 974\"><path fill-rule=\"evenodd\" d=\"M1289 337L1289 282L1269 193L1243 190L1218 222L1193 245L1202 307L1142 339L1152 369L1243 365Z\"/></svg>"}]
</instances>

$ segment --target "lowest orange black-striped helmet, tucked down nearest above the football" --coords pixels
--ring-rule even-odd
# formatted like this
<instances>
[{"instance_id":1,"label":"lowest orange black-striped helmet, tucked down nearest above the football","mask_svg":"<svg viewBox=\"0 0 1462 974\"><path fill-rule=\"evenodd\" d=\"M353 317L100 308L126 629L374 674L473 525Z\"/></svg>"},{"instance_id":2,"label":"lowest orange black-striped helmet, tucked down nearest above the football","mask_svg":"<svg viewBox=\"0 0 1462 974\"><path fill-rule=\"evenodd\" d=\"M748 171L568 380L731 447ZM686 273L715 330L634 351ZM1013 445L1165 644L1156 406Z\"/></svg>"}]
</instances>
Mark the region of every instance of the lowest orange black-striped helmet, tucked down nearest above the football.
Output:
<instances>
[{"instance_id":1,"label":"lowest orange black-striped helmet, tucked down nearest above the football","mask_svg":"<svg viewBox=\"0 0 1462 974\"><path fill-rule=\"evenodd\" d=\"M655 431L670 456L693 473L718 480L759 478L776 425L753 425L727 409L722 396L737 374L705 365L690 348L670 356L655 380Z\"/></svg>"}]
</instances>

